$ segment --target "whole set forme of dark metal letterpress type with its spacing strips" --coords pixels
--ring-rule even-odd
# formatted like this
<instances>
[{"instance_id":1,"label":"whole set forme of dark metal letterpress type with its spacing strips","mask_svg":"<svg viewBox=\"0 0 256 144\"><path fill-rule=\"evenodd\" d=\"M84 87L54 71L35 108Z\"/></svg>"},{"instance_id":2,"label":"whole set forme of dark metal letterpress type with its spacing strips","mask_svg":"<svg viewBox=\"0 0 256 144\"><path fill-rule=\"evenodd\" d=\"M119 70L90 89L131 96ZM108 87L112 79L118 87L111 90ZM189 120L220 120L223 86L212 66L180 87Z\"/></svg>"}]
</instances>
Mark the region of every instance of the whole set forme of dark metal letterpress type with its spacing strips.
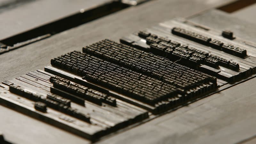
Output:
<instances>
[{"instance_id":1,"label":"whole set forme of dark metal letterpress type with its spacing strips","mask_svg":"<svg viewBox=\"0 0 256 144\"><path fill-rule=\"evenodd\" d=\"M173 19L0 84L1 104L92 141L255 76L254 45Z\"/></svg>"}]
</instances>

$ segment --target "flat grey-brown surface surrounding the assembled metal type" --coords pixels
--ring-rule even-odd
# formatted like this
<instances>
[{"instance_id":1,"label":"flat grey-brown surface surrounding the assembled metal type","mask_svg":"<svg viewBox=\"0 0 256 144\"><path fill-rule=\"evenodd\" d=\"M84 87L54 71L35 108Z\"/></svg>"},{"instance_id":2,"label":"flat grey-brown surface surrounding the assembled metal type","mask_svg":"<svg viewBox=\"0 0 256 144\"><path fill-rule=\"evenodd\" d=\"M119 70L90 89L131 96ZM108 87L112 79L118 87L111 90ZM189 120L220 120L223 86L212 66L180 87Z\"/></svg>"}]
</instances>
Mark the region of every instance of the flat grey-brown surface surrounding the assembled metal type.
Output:
<instances>
[{"instance_id":1,"label":"flat grey-brown surface surrounding the assembled metal type","mask_svg":"<svg viewBox=\"0 0 256 144\"><path fill-rule=\"evenodd\" d=\"M136 7L130 7L61 32L48 39L2 54L0 56L0 81L12 79L36 69L43 69L44 66L50 64L51 58L73 50L81 51L84 45L105 38L119 40L124 35L151 27L159 22L174 17L188 17L227 2L229 1L153 0ZM255 80L252 79L240 84L241 87L245 87L243 101L241 102L236 100L242 95L241 92L238 93L241 89L237 89L238 86L235 86L234 90L225 90L101 142L141 143L141 140L144 140L145 143L204 143L207 140L209 143L215 143L215 140L219 140L219 142L232 143L250 137L256 131L253 129L247 132L244 131L246 128L250 128L250 124L253 127L254 122L252 120L255 114L248 111L244 103L248 103L248 107L252 110L255 108L255 105L252 104L253 101L251 103L247 101L247 98L253 100L250 94L255 91L250 85L255 83ZM236 95L236 97L233 97L233 95ZM231 104L231 100L234 103ZM227 104L229 104L229 107L226 106ZM237 109L234 109L234 107L237 107ZM242 110L238 111L239 108L242 108ZM236 116L237 111L241 114ZM250 114L248 117L246 117L246 112ZM0 119L0 122L6 124L0 125L0 129L4 132L5 138L12 142L19 144L79 144L88 142L2 106L0 115L4 116L3 119ZM244 122L247 123L244 124ZM240 134L241 136L239 136ZM229 136L230 139L227 139L226 136Z\"/></svg>"}]
</instances>

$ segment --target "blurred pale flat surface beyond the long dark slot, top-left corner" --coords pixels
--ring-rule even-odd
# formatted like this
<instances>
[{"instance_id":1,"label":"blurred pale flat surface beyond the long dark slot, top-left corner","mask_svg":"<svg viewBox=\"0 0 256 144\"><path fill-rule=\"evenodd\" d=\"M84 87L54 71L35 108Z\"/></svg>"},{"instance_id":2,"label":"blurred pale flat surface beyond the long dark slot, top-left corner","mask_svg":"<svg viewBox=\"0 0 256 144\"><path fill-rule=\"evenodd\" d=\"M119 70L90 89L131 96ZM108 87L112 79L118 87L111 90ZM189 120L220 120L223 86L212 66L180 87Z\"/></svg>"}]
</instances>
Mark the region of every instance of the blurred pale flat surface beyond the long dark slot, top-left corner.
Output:
<instances>
[{"instance_id":1,"label":"blurred pale flat surface beyond the long dark slot, top-left corner","mask_svg":"<svg viewBox=\"0 0 256 144\"><path fill-rule=\"evenodd\" d=\"M0 40L114 0L0 0ZM3 6L9 4L7 8Z\"/></svg>"}]
</instances>

